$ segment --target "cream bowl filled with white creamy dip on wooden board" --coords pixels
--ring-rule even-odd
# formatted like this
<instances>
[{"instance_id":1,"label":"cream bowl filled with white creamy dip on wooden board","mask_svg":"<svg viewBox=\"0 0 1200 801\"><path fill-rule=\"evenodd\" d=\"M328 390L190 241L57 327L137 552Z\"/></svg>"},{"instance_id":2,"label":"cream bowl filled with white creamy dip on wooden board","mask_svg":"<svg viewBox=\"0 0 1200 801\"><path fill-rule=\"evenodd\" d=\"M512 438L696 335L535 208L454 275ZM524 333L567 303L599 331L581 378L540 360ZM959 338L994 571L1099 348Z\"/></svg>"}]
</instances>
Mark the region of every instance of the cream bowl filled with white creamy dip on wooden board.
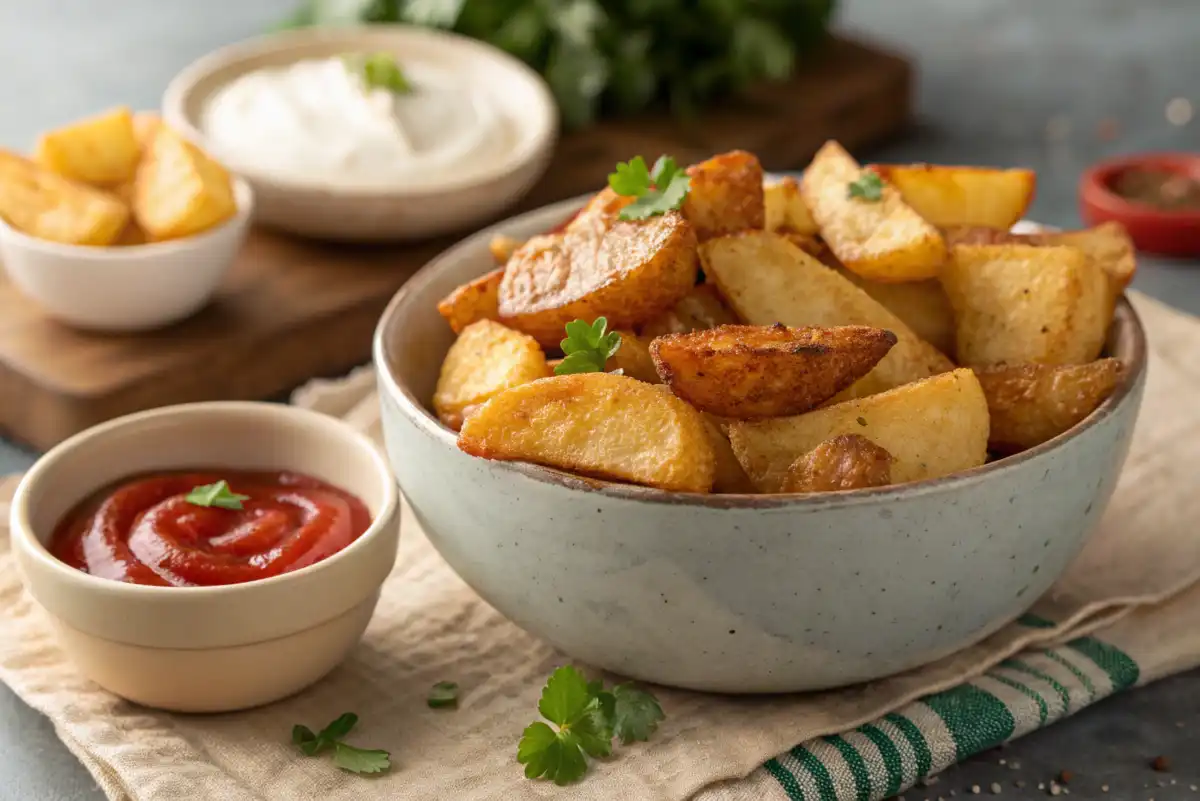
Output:
<instances>
[{"instance_id":1,"label":"cream bowl filled with white creamy dip on wooden board","mask_svg":"<svg viewBox=\"0 0 1200 801\"><path fill-rule=\"evenodd\" d=\"M344 56L395 56L413 91L364 90ZM406 25L313 28L222 48L167 88L163 116L254 188L256 219L330 241L420 240L518 201L558 110L506 53Z\"/></svg>"}]
</instances>

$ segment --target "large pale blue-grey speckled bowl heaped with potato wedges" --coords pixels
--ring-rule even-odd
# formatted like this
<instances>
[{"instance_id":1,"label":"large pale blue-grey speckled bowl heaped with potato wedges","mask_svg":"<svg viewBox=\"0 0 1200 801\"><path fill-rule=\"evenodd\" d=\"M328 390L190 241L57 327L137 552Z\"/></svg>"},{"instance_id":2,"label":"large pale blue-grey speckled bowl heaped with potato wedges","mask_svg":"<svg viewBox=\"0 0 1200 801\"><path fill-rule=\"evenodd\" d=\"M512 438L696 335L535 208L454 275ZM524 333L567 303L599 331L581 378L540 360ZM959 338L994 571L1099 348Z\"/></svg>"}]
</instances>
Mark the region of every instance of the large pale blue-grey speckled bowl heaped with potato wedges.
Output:
<instances>
[{"instance_id":1,"label":"large pale blue-grey speckled bowl heaped with potato wedges","mask_svg":"<svg viewBox=\"0 0 1200 801\"><path fill-rule=\"evenodd\" d=\"M851 685L1018 618L1114 490L1146 343L1118 227L1028 170L617 165L467 239L376 335L388 452L488 603L670 686Z\"/></svg>"}]
</instances>

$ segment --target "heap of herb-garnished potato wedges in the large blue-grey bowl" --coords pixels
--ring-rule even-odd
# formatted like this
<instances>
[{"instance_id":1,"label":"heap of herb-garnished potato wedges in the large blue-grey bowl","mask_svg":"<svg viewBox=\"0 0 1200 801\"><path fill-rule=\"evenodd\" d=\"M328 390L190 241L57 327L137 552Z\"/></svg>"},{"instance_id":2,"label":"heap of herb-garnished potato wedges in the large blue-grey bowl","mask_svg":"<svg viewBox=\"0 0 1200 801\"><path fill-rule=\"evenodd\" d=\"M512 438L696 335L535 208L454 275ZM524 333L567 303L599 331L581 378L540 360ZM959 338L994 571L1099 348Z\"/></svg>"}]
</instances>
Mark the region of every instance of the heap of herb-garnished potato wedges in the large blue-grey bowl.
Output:
<instances>
[{"instance_id":1,"label":"heap of herb-garnished potato wedges in the large blue-grey bowl","mask_svg":"<svg viewBox=\"0 0 1200 801\"><path fill-rule=\"evenodd\" d=\"M836 143L803 182L742 151L632 158L439 302L460 336L433 408L468 453L674 492L884 487L1034 447L1121 384L1098 357L1135 271L1117 224L1009 230L1034 187Z\"/></svg>"}]
</instances>

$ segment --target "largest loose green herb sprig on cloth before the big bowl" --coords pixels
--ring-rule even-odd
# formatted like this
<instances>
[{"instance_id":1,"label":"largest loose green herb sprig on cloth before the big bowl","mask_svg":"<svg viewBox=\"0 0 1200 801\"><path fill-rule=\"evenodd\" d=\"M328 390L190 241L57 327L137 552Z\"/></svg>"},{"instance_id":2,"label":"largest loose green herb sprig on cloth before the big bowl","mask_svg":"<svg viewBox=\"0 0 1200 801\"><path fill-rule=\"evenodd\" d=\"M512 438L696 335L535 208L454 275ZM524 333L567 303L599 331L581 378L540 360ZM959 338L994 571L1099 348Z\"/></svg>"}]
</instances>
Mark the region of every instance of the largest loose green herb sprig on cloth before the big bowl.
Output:
<instances>
[{"instance_id":1,"label":"largest loose green herb sprig on cloth before the big bowl","mask_svg":"<svg viewBox=\"0 0 1200 801\"><path fill-rule=\"evenodd\" d=\"M569 664L551 674L538 711L554 725L535 721L526 727L517 761L526 766L528 778L548 778L559 785L581 778L588 757L608 757L614 736L623 745L647 740L665 718L648 691L630 683L605 689L604 682L589 682Z\"/></svg>"}]
</instances>

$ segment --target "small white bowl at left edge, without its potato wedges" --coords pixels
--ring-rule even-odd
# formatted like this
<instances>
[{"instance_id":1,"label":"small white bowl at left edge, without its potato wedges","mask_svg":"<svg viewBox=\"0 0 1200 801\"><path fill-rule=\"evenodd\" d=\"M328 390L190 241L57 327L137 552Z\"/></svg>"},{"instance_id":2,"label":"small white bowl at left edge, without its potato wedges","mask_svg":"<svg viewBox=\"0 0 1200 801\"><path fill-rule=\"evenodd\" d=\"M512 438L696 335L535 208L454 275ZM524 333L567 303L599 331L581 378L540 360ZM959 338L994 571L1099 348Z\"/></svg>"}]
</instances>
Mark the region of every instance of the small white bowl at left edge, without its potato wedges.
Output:
<instances>
[{"instance_id":1,"label":"small white bowl at left edge, without its potato wedges","mask_svg":"<svg viewBox=\"0 0 1200 801\"><path fill-rule=\"evenodd\" d=\"M246 239L254 195L234 177L238 213L216 228L166 242L62 245L0 219L0 264L50 317L91 331L146 331L178 323L212 297Z\"/></svg>"}]
</instances>

